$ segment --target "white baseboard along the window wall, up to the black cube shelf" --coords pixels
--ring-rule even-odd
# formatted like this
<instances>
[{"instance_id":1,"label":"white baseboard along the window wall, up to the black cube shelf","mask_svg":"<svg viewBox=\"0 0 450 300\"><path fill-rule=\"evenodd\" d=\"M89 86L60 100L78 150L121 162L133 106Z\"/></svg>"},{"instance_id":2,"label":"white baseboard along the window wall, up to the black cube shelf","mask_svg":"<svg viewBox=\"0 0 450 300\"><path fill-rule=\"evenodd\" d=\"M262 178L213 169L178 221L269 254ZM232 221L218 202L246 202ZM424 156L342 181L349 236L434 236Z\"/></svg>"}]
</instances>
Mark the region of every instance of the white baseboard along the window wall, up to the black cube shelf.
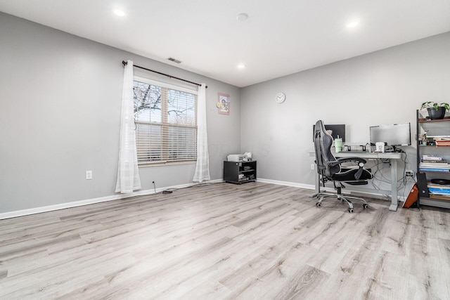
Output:
<instances>
[{"instance_id":1,"label":"white baseboard along the window wall, up to the black cube shelf","mask_svg":"<svg viewBox=\"0 0 450 300\"><path fill-rule=\"evenodd\" d=\"M205 181L203 183L200 184L204 184L204 183L219 183L222 182L222 179L215 179L212 181ZM188 188L190 186L193 185L198 185L199 183L186 183L186 184L182 184L182 185L173 185L173 186L169 186L166 188L157 188L156 189L156 193L160 193L163 190L169 190L169 189L176 189L176 188ZM9 211L9 212L5 212L0 214L0 220L3 219L10 219L10 218L15 218L18 216L28 216L30 214L41 214L43 212L47 212L47 211L55 211L58 209L68 209L70 207L81 207L83 205L89 205L89 204L95 204L95 203L100 203L100 202L108 202L108 201L114 201L114 200L120 200L120 199L125 199L125 198L129 198L129 197L134 197L134 196L142 196L142 195L152 195L155 194L155 190L138 190L134 193L128 193L128 194L117 194L117 195L111 195L111 196L106 196L106 197L99 197L99 198L94 198L94 199L88 199L88 200L81 200L81 201L75 201L75 202L67 202L67 203L61 203L61 204L54 204L54 205L49 205L46 207L36 207L36 208L32 208L32 209L23 209L23 210L19 210L19 211Z\"/></svg>"}]
</instances>

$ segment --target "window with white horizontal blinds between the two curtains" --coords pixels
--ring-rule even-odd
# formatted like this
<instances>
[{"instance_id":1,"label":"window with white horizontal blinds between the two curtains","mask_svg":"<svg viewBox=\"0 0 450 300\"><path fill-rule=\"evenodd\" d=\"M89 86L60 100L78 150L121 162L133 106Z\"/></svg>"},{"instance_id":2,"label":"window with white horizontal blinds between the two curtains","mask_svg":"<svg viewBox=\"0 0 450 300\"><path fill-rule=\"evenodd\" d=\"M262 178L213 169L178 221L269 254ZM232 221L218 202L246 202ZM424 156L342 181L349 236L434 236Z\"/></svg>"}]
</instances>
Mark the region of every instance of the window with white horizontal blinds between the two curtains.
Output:
<instances>
[{"instance_id":1,"label":"window with white horizontal blinds between the two curtains","mask_svg":"<svg viewBox=\"0 0 450 300\"><path fill-rule=\"evenodd\" d=\"M197 159L197 91L134 77L138 164Z\"/></svg>"}]
</instances>

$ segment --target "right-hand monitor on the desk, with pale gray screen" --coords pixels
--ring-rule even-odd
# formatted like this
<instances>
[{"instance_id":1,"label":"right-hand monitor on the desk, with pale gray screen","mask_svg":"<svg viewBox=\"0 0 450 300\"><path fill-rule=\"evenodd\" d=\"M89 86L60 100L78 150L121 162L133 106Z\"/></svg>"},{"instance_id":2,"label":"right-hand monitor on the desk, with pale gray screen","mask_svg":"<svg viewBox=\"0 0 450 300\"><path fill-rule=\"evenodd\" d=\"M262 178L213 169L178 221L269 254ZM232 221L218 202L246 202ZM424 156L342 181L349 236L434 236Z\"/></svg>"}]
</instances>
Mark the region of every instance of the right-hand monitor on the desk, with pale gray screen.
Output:
<instances>
[{"instance_id":1,"label":"right-hand monitor on the desk, with pale gray screen","mask_svg":"<svg viewBox=\"0 0 450 300\"><path fill-rule=\"evenodd\" d=\"M411 124L390 124L371 126L371 145L384 142L389 146L411 145Z\"/></svg>"}]
</instances>

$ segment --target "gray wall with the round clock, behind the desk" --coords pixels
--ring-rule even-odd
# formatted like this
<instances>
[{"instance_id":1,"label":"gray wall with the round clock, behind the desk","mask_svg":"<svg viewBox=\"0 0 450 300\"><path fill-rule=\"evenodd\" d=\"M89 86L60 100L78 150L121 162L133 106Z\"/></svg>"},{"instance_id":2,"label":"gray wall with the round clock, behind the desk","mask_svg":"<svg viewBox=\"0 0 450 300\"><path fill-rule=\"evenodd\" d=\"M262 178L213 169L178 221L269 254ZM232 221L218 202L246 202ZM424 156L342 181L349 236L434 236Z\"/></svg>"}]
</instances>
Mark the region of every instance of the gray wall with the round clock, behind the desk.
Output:
<instances>
[{"instance_id":1,"label":"gray wall with the round clock, behind the desk","mask_svg":"<svg viewBox=\"0 0 450 300\"><path fill-rule=\"evenodd\" d=\"M318 119L346 124L352 143L367 143L369 126L411 122L413 146L404 150L406 168L416 170L416 109L428 100L450 102L449 79L446 33L245 87L241 152L253 152L259 178L312 185L307 152ZM285 103L275 102L278 92Z\"/></svg>"}]
</instances>

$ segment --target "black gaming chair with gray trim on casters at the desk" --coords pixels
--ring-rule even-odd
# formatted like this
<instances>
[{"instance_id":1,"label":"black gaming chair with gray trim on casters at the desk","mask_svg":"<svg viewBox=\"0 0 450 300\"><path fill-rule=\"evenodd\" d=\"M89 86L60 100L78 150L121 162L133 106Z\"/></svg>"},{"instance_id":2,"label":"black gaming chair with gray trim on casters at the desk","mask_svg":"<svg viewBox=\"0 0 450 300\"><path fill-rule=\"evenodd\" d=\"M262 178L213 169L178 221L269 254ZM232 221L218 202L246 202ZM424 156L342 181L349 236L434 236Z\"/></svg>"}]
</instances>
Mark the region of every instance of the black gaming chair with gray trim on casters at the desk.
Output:
<instances>
[{"instance_id":1,"label":"black gaming chair with gray trim on casters at the desk","mask_svg":"<svg viewBox=\"0 0 450 300\"><path fill-rule=\"evenodd\" d=\"M354 211L353 204L350 199L361 200L364 202L363 207L365 209L368 208L368 204L363 198L342 195L342 188L345 188L342 182L352 185L364 185L367 184L368 179L373 178L371 172L364 169L366 159L361 157L345 157L336 159L331 152L332 144L333 137L326 131L323 121L317 121L316 126L314 126L314 149L316 151L317 172L319 173L323 186L325 186L327 181L333 181L335 190L337 190L338 193L319 193L319 195L317 195L318 202L316 203L316 206L321 207L323 199L337 197L338 200L344 200L347 204L349 204L348 211L350 213ZM341 168L341 164L344 162L357 162L358 167Z\"/></svg>"}]
</instances>

